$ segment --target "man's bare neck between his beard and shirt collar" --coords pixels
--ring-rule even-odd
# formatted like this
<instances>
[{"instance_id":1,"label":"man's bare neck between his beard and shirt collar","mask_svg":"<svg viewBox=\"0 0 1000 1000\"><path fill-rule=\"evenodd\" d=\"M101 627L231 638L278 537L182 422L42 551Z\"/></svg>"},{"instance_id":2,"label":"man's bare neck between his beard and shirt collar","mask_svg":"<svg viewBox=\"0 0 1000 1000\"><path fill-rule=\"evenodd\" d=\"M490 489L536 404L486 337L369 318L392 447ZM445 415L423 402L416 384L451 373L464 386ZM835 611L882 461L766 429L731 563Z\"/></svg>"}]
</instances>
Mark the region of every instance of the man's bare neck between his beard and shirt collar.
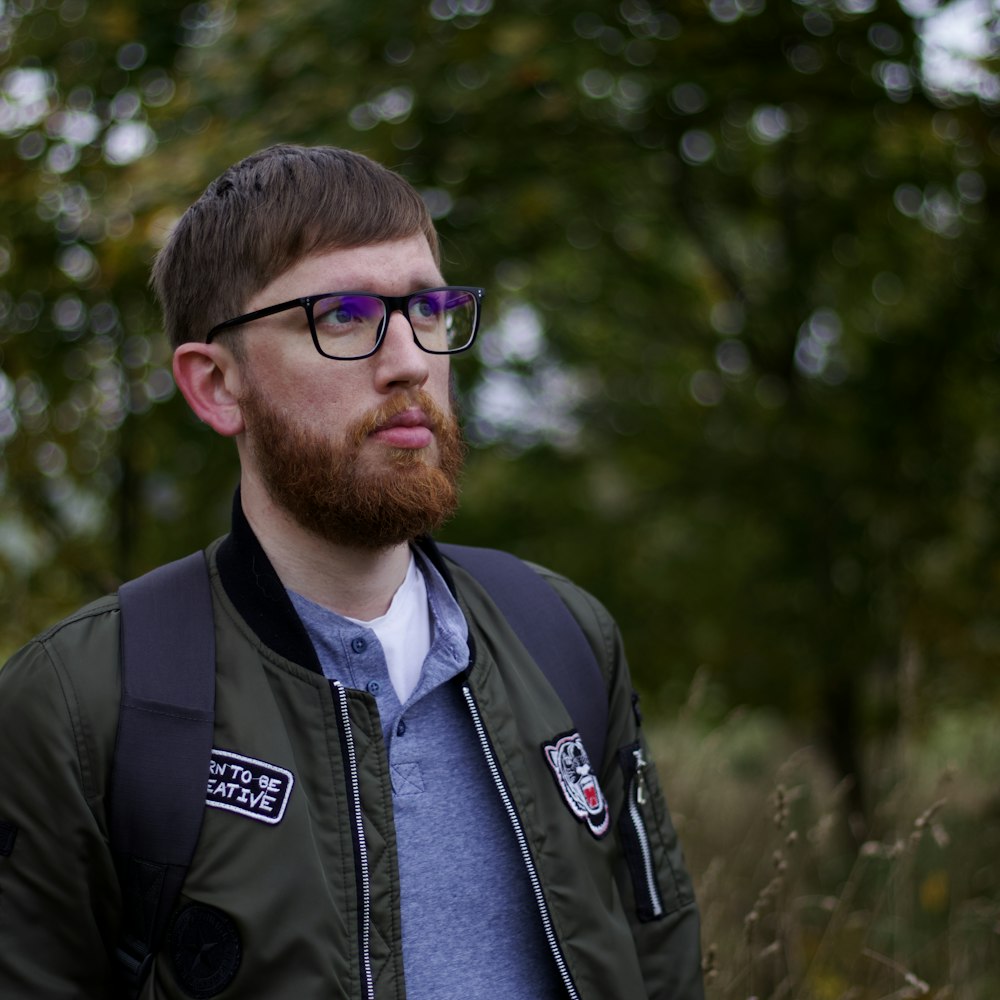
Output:
<instances>
[{"instance_id":1,"label":"man's bare neck between his beard and shirt collar","mask_svg":"<svg viewBox=\"0 0 1000 1000\"><path fill-rule=\"evenodd\" d=\"M282 584L337 614L361 621L384 615L406 577L405 543L372 550L339 545L303 528L244 476L243 513Z\"/></svg>"}]
</instances>

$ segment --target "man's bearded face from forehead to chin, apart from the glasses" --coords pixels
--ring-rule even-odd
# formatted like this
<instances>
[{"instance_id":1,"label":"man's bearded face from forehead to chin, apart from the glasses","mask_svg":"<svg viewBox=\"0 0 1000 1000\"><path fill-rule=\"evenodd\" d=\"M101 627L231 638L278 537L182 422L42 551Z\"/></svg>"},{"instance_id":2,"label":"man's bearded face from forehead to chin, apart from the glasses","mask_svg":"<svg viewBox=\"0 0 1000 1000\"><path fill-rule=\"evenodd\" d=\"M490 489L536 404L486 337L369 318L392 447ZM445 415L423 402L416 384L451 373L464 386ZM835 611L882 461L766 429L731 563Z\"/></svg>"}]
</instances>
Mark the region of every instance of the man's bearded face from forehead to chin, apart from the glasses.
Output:
<instances>
[{"instance_id":1,"label":"man's bearded face from forehead to chin, apart from the glasses","mask_svg":"<svg viewBox=\"0 0 1000 1000\"><path fill-rule=\"evenodd\" d=\"M368 291L404 295L443 284L422 236L310 257L247 304ZM421 351L393 314L370 358L315 350L302 310L240 333L243 473L302 527L338 544L385 548L438 527L457 505L462 444L449 359Z\"/></svg>"}]
</instances>

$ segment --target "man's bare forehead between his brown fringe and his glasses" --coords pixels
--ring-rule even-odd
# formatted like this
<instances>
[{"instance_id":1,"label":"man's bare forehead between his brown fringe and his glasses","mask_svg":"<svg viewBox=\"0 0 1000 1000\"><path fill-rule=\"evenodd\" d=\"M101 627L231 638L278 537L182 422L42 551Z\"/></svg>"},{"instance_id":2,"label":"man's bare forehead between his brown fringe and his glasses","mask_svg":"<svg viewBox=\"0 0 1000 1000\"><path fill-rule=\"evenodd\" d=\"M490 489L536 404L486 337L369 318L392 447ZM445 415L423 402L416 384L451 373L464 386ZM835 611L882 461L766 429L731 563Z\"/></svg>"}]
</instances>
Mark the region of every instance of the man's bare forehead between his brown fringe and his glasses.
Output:
<instances>
[{"instance_id":1,"label":"man's bare forehead between his brown fringe and his glasses","mask_svg":"<svg viewBox=\"0 0 1000 1000\"><path fill-rule=\"evenodd\" d=\"M443 281L427 239L418 234L304 257L254 295L248 311L320 292L405 295Z\"/></svg>"}]
</instances>

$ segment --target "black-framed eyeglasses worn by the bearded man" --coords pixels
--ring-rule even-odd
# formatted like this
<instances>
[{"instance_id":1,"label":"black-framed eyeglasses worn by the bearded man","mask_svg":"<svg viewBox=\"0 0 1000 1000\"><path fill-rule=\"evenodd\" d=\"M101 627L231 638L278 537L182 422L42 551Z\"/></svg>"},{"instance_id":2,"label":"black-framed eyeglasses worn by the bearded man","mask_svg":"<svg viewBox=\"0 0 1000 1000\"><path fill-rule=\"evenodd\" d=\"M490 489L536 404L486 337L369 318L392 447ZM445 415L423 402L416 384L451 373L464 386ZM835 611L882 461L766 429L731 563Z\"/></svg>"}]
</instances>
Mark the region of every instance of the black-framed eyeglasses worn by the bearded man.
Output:
<instances>
[{"instance_id":1,"label":"black-framed eyeglasses worn by the bearded man","mask_svg":"<svg viewBox=\"0 0 1000 1000\"><path fill-rule=\"evenodd\" d=\"M208 331L205 343L210 344L215 335L224 330L301 308L309 321L316 350L324 358L354 361L371 357L382 346L389 317L394 312L401 312L422 351L458 354L471 347L476 337L479 305L484 294L482 288L459 285L424 288L409 295L324 292L227 319Z\"/></svg>"}]
</instances>

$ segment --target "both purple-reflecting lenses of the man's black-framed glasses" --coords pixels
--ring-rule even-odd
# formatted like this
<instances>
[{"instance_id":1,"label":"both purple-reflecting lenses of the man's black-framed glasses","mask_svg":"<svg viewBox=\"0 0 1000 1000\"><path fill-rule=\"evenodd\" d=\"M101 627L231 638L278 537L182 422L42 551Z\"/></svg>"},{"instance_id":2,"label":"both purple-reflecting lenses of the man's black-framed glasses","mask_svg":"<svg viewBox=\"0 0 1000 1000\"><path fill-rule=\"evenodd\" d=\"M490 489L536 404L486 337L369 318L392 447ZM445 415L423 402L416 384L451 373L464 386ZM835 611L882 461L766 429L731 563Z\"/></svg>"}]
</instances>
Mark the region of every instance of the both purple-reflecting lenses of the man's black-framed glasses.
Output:
<instances>
[{"instance_id":1,"label":"both purple-reflecting lenses of the man's black-framed glasses","mask_svg":"<svg viewBox=\"0 0 1000 1000\"><path fill-rule=\"evenodd\" d=\"M447 352L468 346L476 309L471 292L442 288L411 296L406 311L417 343L426 351ZM385 304L373 295L331 295L313 304L319 348L335 358L370 353L384 321Z\"/></svg>"}]
</instances>

